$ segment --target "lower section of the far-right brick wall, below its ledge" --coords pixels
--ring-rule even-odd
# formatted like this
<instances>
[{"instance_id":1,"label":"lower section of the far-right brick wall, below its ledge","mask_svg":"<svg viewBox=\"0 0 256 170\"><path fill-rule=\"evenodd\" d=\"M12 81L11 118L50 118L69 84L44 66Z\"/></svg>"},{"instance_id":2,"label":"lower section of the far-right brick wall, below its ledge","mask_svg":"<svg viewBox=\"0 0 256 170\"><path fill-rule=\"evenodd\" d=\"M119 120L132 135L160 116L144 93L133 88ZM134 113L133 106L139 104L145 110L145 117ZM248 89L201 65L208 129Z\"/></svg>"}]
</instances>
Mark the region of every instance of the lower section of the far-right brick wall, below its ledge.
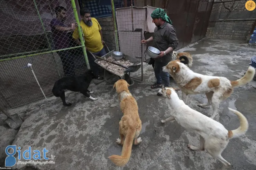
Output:
<instances>
[{"instance_id":1,"label":"lower section of the far-right brick wall, below its ledge","mask_svg":"<svg viewBox=\"0 0 256 170\"><path fill-rule=\"evenodd\" d=\"M210 21L206 37L248 40L254 20L248 21Z\"/></svg>"}]
</instances>

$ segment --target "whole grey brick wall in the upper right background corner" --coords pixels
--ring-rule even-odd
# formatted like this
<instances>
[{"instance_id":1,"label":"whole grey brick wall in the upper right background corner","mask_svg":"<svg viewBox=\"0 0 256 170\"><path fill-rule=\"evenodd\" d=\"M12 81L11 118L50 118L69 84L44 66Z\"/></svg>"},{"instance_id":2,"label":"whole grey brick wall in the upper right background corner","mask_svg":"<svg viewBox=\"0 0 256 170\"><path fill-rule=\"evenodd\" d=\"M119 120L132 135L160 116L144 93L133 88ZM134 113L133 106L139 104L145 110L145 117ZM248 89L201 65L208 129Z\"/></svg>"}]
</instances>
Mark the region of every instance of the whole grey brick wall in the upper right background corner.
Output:
<instances>
[{"instance_id":1,"label":"whole grey brick wall in the upper right background corner","mask_svg":"<svg viewBox=\"0 0 256 170\"><path fill-rule=\"evenodd\" d=\"M220 0L215 0L206 33L208 38L225 38L249 40L256 20L256 10L245 9L245 1L225 2L226 9Z\"/></svg>"}]
</instances>

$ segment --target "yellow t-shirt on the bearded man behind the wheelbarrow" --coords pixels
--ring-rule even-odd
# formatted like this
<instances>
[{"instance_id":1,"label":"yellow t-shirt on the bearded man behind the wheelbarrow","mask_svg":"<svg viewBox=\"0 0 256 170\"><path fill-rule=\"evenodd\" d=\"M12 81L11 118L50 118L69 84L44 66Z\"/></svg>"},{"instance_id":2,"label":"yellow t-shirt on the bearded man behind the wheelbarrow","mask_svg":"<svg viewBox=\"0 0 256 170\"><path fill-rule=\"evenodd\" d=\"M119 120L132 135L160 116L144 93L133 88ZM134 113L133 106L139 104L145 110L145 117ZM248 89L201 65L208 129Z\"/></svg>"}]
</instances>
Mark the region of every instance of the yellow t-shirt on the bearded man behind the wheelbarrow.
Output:
<instances>
[{"instance_id":1,"label":"yellow t-shirt on the bearded man behind the wheelbarrow","mask_svg":"<svg viewBox=\"0 0 256 170\"><path fill-rule=\"evenodd\" d=\"M101 26L97 19L92 18L92 26L86 25L83 20L80 21L80 25L84 34L86 48L92 53L96 53L102 50L103 44L99 32L101 30ZM77 28L74 30L72 36L74 39L79 39L79 32Z\"/></svg>"}]
</instances>

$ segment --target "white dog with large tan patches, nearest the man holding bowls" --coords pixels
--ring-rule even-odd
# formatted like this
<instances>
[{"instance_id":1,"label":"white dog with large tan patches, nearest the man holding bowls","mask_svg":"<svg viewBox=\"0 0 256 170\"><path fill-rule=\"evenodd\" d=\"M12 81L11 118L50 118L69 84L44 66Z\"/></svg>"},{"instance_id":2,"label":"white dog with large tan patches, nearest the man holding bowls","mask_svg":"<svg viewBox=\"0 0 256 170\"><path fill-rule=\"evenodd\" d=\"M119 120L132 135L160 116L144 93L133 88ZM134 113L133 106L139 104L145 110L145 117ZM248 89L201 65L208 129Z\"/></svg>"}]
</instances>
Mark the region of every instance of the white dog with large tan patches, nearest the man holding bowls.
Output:
<instances>
[{"instance_id":1,"label":"white dog with large tan patches, nearest the man holding bowls","mask_svg":"<svg viewBox=\"0 0 256 170\"><path fill-rule=\"evenodd\" d=\"M189 94L205 93L207 104L198 104L200 107L212 105L213 119L218 114L220 102L227 99L233 92L234 87L245 85L252 81L255 74L255 68L249 66L246 74L236 80L230 81L226 77L208 76L193 72L188 66L181 63L180 60L169 62L163 67L163 72L171 74L177 85L182 91L182 99L186 103ZM158 93L161 92L161 89Z\"/></svg>"}]
</instances>

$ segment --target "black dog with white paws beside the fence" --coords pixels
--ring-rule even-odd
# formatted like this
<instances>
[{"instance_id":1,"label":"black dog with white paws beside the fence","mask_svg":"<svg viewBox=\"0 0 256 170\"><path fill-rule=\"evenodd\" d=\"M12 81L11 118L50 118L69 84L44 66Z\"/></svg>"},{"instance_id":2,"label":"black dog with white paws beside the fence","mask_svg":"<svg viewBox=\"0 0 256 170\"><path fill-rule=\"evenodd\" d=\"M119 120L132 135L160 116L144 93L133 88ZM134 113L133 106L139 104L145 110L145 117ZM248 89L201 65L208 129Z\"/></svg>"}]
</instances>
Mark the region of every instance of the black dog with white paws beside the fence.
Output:
<instances>
[{"instance_id":1,"label":"black dog with white paws beside the fence","mask_svg":"<svg viewBox=\"0 0 256 170\"><path fill-rule=\"evenodd\" d=\"M93 78L98 78L92 73L92 70L86 71L79 76L65 76L58 79L52 89L52 93L56 97L61 97L64 106L71 106L71 103L66 103L64 90L70 90L72 92L80 92L91 100L98 100L90 96L93 92L88 90L88 87ZM89 93L89 94L88 94Z\"/></svg>"}]
</instances>

